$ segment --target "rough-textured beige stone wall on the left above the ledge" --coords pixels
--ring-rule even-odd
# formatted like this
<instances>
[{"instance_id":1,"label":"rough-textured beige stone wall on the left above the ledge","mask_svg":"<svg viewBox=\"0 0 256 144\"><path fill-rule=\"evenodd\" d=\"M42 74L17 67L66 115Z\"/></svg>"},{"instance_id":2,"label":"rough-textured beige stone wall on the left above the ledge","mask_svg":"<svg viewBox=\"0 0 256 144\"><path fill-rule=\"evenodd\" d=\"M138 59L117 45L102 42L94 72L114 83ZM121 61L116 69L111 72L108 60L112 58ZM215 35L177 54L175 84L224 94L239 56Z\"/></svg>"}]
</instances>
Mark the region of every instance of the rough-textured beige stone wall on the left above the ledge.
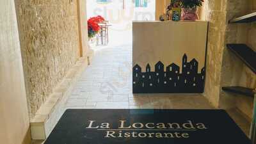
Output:
<instances>
[{"instance_id":1,"label":"rough-textured beige stone wall on the left above the ledge","mask_svg":"<svg viewBox=\"0 0 256 144\"><path fill-rule=\"evenodd\" d=\"M80 56L76 0L15 0L30 117Z\"/></svg>"}]
</instances>

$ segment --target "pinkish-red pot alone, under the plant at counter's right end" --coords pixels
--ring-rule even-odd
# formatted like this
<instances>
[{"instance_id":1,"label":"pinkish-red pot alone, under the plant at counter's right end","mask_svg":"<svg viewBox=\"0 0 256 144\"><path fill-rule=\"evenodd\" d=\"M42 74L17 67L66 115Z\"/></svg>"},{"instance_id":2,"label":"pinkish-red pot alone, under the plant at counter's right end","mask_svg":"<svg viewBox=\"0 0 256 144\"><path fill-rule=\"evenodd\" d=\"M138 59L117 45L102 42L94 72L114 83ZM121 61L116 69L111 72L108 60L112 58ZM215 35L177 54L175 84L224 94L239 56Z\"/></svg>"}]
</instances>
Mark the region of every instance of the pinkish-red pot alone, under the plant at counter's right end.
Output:
<instances>
[{"instance_id":1,"label":"pinkish-red pot alone, under the plant at counter's right end","mask_svg":"<svg viewBox=\"0 0 256 144\"><path fill-rule=\"evenodd\" d=\"M181 12L181 19L182 20L198 20L198 9L197 8L182 8Z\"/></svg>"}]
</instances>

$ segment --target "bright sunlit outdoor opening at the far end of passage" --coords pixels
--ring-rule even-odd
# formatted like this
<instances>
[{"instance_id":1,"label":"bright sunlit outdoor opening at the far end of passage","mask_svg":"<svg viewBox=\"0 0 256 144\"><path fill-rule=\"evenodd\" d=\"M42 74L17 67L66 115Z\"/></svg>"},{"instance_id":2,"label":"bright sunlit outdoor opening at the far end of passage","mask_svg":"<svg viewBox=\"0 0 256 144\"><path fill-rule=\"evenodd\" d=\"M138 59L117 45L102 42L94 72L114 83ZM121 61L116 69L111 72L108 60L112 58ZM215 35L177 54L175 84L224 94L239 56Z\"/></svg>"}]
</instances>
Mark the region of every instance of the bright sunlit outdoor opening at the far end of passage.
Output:
<instances>
[{"instance_id":1,"label":"bright sunlit outdoor opening at the far end of passage","mask_svg":"<svg viewBox=\"0 0 256 144\"><path fill-rule=\"evenodd\" d=\"M87 17L109 21L109 46L132 44L132 21L155 20L156 0L87 1Z\"/></svg>"}]
</instances>

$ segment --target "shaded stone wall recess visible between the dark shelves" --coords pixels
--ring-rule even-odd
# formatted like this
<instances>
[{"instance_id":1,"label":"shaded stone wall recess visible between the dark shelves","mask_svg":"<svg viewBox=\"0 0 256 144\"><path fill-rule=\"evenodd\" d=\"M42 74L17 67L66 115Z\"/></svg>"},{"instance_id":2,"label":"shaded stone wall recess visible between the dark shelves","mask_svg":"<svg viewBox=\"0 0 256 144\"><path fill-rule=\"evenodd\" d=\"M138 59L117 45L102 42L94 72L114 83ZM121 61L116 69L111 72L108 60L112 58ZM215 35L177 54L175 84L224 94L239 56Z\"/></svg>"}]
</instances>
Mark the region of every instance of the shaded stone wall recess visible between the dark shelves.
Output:
<instances>
[{"instance_id":1,"label":"shaded stone wall recess visible between the dark shelves","mask_svg":"<svg viewBox=\"0 0 256 144\"><path fill-rule=\"evenodd\" d=\"M227 20L251 13L253 1L255 0L228 0ZM255 24L228 24L225 34L225 44L246 44L249 47L252 47L252 49L255 49L255 40L252 38L252 36L255 36L255 28L253 28L253 25ZM228 51L228 49L224 49L223 51L223 65L221 67L221 87L222 86L244 86L246 88L256 88L255 74L250 70L250 68L246 67L246 65L244 65L244 63L239 60L235 54ZM230 104L227 105L227 103ZM220 108L228 107L236 107L246 114L246 116L252 118L252 98L221 91Z\"/></svg>"}]
</instances>

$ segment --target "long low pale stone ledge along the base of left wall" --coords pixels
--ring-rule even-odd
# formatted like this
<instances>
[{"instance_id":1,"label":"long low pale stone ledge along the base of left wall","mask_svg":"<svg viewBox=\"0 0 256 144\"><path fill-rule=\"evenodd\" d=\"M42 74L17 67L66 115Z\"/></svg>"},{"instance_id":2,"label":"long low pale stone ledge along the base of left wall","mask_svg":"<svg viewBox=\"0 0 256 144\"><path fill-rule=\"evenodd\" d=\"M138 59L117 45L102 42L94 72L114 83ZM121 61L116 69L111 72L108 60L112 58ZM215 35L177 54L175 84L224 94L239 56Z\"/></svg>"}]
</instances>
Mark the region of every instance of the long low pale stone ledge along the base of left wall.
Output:
<instances>
[{"instance_id":1,"label":"long low pale stone ledge along the base of left wall","mask_svg":"<svg viewBox=\"0 0 256 144\"><path fill-rule=\"evenodd\" d=\"M66 110L65 103L68 96L72 93L74 86L87 66L87 56L80 58L38 109L36 115L30 120L32 140L45 140L49 136Z\"/></svg>"}]
</instances>

